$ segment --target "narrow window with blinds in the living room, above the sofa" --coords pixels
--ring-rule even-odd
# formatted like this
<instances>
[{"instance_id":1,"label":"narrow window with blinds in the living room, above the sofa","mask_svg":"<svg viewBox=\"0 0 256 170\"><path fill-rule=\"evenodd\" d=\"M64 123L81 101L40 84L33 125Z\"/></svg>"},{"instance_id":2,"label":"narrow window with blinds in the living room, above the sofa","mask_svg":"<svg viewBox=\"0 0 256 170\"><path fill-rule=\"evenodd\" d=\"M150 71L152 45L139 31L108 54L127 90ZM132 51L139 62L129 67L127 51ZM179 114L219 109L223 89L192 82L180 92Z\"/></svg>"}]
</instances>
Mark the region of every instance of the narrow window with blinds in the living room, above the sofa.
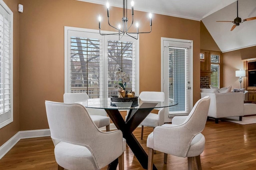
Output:
<instances>
[{"instance_id":1,"label":"narrow window with blinds in the living room, above the sofa","mask_svg":"<svg viewBox=\"0 0 256 170\"><path fill-rule=\"evenodd\" d=\"M211 85L220 88L220 55L210 54L211 56Z\"/></svg>"}]
</instances>

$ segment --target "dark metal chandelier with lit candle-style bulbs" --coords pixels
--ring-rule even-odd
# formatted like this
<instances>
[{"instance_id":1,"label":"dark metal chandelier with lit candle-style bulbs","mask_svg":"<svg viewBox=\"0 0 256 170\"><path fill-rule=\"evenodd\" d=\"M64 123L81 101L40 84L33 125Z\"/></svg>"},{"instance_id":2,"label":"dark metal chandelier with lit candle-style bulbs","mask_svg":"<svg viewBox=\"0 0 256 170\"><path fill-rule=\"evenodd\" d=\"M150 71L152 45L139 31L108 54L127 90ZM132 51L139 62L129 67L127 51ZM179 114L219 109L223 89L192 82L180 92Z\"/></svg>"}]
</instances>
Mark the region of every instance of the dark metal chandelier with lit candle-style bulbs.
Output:
<instances>
[{"instance_id":1,"label":"dark metal chandelier with lit candle-style bulbs","mask_svg":"<svg viewBox=\"0 0 256 170\"><path fill-rule=\"evenodd\" d=\"M110 20L109 20L109 16L110 16L110 12L109 12L109 3L107 2L106 6L107 6L107 16L108 16L108 25L110 25L110 27L113 27L114 29L116 29L118 31L118 33L109 33L109 34L104 34L100 32L100 35L119 35L119 40L120 40L120 35L123 36L124 34L129 35L130 37L134 38L134 39L138 39L138 34L139 33L150 33L152 31L152 14L149 14L149 18L150 18L150 31L148 32L139 32L139 25L138 22L136 23L136 28L137 31L136 32L129 32L130 27L133 24L133 17L134 17L134 1L131 2L132 5L132 23L130 24L130 26L128 26L128 17L127 17L127 0L123 0L123 18L122 18L122 26L119 24L118 28L114 27L110 24ZM101 16L99 16L99 30L101 28ZM134 36L136 35L136 36ZM121 37L122 38L122 37Z\"/></svg>"}]
</instances>

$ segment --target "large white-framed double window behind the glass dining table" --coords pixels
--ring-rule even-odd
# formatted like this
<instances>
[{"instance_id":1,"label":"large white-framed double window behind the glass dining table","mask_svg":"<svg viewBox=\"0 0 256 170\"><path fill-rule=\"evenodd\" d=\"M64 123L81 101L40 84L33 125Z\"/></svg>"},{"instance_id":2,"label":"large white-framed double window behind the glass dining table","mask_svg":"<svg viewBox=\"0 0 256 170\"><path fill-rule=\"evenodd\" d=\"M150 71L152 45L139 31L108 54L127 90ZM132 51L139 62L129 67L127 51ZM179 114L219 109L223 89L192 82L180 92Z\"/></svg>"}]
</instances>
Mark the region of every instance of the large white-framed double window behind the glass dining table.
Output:
<instances>
[{"instance_id":1,"label":"large white-framed double window behind the glass dining table","mask_svg":"<svg viewBox=\"0 0 256 170\"><path fill-rule=\"evenodd\" d=\"M65 92L86 92L90 98L117 96L116 72L122 68L130 75L126 90L138 94L138 42L65 27Z\"/></svg>"}]
</instances>

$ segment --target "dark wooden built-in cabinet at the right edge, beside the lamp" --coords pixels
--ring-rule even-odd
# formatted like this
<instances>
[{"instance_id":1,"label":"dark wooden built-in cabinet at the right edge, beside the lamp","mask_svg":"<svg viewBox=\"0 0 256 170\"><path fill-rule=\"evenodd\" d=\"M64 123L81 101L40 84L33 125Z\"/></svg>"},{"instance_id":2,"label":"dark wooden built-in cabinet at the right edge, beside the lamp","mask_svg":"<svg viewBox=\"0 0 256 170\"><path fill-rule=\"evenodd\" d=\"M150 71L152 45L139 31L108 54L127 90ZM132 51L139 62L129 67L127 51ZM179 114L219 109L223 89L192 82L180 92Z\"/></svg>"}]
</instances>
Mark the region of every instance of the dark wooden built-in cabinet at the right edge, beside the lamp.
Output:
<instances>
[{"instance_id":1,"label":"dark wooden built-in cabinet at the right edge, beside the lamp","mask_svg":"<svg viewBox=\"0 0 256 170\"><path fill-rule=\"evenodd\" d=\"M245 62L246 65L246 90L248 91L248 100L256 102L256 59Z\"/></svg>"}]
</instances>

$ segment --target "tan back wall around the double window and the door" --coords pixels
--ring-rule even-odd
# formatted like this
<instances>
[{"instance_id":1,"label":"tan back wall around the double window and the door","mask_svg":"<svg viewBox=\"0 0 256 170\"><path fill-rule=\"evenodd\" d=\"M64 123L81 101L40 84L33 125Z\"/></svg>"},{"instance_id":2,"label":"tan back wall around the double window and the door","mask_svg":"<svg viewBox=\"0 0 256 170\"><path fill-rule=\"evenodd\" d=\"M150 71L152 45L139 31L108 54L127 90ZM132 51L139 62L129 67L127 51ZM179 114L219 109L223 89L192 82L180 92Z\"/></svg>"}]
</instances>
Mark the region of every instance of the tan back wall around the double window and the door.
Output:
<instances>
[{"instance_id":1,"label":"tan back wall around the double window and the door","mask_svg":"<svg viewBox=\"0 0 256 170\"><path fill-rule=\"evenodd\" d=\"M20 130L45 129L48 123L45 100L63 101L64 26L98 29L98 15L106 16L105 6L76 0L20 0ZM116 10L111 8L113 21ZM146 20L144 12L135 18ZM146 18L146 19L144 19ZM106 18L102 29L107 30ZM194 103L200 98L200 22L153 15L153 31L140 35L140 91L161 90L161 37L194 41ZM150 76L150 78L148 78Z\"/></svg>"}]
</instances>

